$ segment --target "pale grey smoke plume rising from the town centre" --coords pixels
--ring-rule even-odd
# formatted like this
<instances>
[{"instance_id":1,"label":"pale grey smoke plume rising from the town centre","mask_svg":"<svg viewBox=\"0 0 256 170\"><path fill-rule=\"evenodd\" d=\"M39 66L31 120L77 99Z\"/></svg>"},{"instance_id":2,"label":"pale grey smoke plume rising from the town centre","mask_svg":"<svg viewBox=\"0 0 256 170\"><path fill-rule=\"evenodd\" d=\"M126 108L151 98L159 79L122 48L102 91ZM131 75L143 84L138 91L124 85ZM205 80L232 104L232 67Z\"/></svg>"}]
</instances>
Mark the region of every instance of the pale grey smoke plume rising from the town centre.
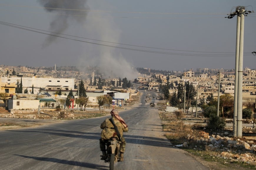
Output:
<instances>
[{"instance_id":1,"label":"pale grey smoke plume rising from the town centre","mask_svg":"<svg viewBox=\"0 0 256 170\"><path fill-rule=\"evenodd\" d=\"M110 5L107 2L102 2L102 8ZM98 5L98 4L97 4ZM100 8L100 6L98 7ZM97 12L89 13L84 25L86 33L85 37L91 36L93 39L103 40L108 42L120 42L122 30L116 24L115 18L109 13ZM119 46L107 42L96 42L105 45ZM97 66L100 72L104 73L104 78L127 78L134 80L138 77L138 72L133 68L132 61L129 56L123 56L122 50L117 48L106 47L101 45L86 44L84 46L84 55L80 56L78 62L80 69L86 69L87 66ZM91 72L87 72L92 74Z\"/></svg>"}]
</instances>

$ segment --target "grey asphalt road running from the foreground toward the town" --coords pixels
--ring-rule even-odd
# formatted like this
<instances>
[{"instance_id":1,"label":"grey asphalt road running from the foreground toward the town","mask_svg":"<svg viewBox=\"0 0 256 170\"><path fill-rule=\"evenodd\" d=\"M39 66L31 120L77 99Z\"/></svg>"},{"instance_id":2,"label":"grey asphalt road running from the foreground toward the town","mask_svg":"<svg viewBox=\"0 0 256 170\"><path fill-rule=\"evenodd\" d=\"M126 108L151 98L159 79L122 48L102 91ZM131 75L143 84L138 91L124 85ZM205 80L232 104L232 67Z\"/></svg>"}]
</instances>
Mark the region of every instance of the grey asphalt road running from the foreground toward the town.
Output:
<instances>
[{"instance_id":1,"label":"grey asphalt road running from the foreground toward the town","mask_svg":"<svg viewBox=\"0 0 256 170\"><path fill-rule=\"evenodd\" d=\"M207 169L182 149L170 146L157 108L150 108L144 96L143 91L141 103L120 112L129 132L124 133L124 161L117 162L115 169ZM0 169L109 169L109 164L100 160L99 149L99 126L107 117L110 114L0 131Z\"/></svg>"}]
</instances>

